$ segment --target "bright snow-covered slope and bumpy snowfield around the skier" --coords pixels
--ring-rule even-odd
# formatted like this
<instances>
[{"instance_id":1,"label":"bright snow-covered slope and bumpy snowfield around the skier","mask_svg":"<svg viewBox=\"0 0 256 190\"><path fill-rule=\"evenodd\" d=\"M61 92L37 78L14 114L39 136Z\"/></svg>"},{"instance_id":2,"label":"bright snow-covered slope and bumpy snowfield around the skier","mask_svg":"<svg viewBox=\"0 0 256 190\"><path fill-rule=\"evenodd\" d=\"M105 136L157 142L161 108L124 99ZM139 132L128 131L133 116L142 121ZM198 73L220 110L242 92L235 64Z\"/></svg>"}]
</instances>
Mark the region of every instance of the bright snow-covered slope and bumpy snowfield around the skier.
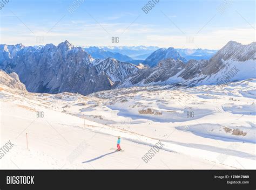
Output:
<instances>
[{"instance_id":1,"label":"bright snow-covered slope and bumpy snowfield around the skier","mask_svg":"<svg viewBox=\"0 0 256 190\"><path fill-rule=\"evenodd\" d=\"M15 144L0 168L256 169L255 82L131 87L87 96L0 85L1 147ZM124 151L111 150L117 136ZM142 157L159 140L164 146L146 163Z\"/></svg>"}]
</instances>

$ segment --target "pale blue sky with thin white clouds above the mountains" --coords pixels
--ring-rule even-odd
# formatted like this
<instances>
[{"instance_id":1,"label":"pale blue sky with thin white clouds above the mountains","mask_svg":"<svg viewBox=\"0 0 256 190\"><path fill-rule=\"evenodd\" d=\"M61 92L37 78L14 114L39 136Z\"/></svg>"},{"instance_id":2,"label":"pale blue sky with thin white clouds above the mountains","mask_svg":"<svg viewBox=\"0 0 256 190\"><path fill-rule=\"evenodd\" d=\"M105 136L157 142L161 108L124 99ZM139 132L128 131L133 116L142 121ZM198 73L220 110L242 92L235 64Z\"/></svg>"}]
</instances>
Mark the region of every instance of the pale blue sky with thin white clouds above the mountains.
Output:
<instances>
[{"instance_id":1,"label":"pale blue sky with thin white clouds above the mountains","mask_svg":"<svg viewBox=\"0 0 256 190\"><path fill-rule=\"evenodd\" d=\"M230 40L255 41L255 1L160 0L146 14L148 1L85 0L70 13L79 1L10 0L0 10L0 43L219 49Z\"/></svg>"}]
</instances>

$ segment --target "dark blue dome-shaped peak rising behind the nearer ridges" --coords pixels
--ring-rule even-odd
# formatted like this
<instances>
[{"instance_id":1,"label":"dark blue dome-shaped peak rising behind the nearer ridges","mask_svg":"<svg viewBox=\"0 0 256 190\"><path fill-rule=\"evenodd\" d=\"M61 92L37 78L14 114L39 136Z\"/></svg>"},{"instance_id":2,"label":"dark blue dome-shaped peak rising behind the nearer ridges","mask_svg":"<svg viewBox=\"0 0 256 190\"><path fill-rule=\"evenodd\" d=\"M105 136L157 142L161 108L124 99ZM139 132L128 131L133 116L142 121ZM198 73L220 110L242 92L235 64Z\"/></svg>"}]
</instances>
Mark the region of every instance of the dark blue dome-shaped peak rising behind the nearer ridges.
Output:
<instances>
[{"instance_id":1,"label":"dark blue dome-shaped peak rising behind the nearer ridges","mask_svg":"<svg viewBox=\"0 0 256 190\"><path fill-rule=\"evenodd\" d=\"M159 61L164 59L174 59L186 62L186 59L181 57L181 55L173 47L169 47L168 49L160 48L159 50L153 52L149 57L147 57L143 64L154 67Z\"/></svg>"}]
</instances>

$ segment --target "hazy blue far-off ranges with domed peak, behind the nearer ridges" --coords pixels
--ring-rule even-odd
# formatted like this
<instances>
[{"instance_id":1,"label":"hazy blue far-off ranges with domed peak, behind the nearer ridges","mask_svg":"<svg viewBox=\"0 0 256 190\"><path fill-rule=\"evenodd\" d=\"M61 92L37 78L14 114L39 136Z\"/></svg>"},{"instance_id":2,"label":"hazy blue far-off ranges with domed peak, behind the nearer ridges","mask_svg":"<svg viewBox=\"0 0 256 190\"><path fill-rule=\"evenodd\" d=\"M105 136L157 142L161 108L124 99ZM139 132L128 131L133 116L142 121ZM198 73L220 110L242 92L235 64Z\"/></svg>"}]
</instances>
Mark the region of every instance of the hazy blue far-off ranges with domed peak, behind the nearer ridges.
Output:
<instances>
[{"instance_id":1,"label":"hazy blue far-off ranges with domed peak, behind the nearer ridges","mask_svg":"<svg viewBox=\"0 0 256 190\"><path fill-rule=\"evenodd\" d=\"M84 47L84 50L92 55L95 59L114 58L119 61L130 62L138 65L139 63L150 66L157 65L158 61L173 58L180 59L184 62L194 59L210 59L217 50L202 50L202 49L174 49L159 48L156 46L133 46L133 47ZM149 64L150 62L150 64Z\"/></svg>"}]
</instances>

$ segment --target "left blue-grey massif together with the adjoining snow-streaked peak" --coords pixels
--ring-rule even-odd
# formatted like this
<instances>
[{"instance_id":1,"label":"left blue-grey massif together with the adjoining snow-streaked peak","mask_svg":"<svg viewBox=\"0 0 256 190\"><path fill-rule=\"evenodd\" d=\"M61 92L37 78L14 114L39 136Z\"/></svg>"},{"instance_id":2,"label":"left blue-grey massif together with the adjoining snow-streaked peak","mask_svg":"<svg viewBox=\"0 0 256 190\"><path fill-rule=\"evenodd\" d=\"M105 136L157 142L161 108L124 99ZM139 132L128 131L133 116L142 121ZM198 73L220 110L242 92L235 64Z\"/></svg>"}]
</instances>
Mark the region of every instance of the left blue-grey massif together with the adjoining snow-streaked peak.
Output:
<instances>
[{"instance_id":1,"label":"left blue-grey massif together with the adjoining snow-streaked peak","mask_svg":"<svg viewBox=\"0 0 256 190\"><path fill-rule=\"evenodd\" d=\"M81 47L68 41L55 46L24 47L0 64L18 73L29 92L72 92L87 95L111 89L138 68L114 59L93 60Z\"/></svg>"}]
</instances>

